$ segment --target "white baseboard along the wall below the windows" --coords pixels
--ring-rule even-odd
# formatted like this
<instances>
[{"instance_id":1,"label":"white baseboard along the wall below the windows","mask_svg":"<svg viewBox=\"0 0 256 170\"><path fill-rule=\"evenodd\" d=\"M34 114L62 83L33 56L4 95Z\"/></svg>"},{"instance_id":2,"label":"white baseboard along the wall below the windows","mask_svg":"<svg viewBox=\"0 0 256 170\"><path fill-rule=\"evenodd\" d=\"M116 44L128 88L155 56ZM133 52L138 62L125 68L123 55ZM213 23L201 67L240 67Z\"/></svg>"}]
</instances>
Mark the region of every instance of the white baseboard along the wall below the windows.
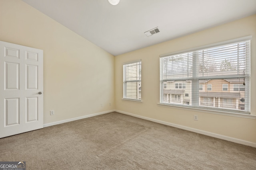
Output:
<instances>
[{"instance_id":1,"label":"white baseboard along the wall below the windows","mask_svg":"<svg viewBox=\"0 0 256 170\"><path fill-rule=\"evenodd\" d=\"M138 117L138 118L145 119L145 120L148 120L148 121L153 121L153 122L156 122L156 123L160 123L160 124L163 124L163 125L177 127L179 129L184 129L184 130L187 130L187 131L192 131L192 132L195 132L195 133L200 133L202 135L207 135L207 136L210 136L210 137L215 137L215 138L218 138L218 139L223 139L223 140L226 140L226 141L230 141L230 142L234 142L234 143L239 143L239 144L242 144L242 145L247 145L247 146L255 147L256 148L256 143L252 143L250 141L244 141L242 139L237 139L237 138L233 138L233 137L227 137L227 136L224 136L224 135L219 135L219 134L216 134L216 133L211 133L211 132L202 131L202 130L199 130L199 129L194 129L194 128L191 128L191 127L177 125L177 124L169 123L169 122L166 122L166 121L160 121L160 120L157 120L157 119L151 119L149 117L139 116L139 115L135 115L135 114L132 114L132 113L125 112L125 111L120 111L120 110L115 110L115 111L118 112L118 113L123 113L123 114L130 115L130 116L133 116L133 117Z\"/></svg>"}]
</instances>

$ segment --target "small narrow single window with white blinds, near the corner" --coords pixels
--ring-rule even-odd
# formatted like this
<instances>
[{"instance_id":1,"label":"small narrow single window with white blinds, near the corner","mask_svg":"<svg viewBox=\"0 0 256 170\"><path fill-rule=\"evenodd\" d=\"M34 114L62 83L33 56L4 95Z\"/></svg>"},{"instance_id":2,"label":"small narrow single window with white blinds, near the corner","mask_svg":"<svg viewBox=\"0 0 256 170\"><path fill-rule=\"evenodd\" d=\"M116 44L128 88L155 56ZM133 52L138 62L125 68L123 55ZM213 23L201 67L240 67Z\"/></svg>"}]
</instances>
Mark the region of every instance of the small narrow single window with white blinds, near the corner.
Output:
<instances>
[{"instance_id":1,"label":"small narrow single window with white blinds, near the corner","mask_svg":"<svg viewBox=\"0 0 256 170\"><path fill-rule=\"evenodd\" d=\"M123 98L141 101L141 61L123 65Z\"/></svg>"}]
</instances>

